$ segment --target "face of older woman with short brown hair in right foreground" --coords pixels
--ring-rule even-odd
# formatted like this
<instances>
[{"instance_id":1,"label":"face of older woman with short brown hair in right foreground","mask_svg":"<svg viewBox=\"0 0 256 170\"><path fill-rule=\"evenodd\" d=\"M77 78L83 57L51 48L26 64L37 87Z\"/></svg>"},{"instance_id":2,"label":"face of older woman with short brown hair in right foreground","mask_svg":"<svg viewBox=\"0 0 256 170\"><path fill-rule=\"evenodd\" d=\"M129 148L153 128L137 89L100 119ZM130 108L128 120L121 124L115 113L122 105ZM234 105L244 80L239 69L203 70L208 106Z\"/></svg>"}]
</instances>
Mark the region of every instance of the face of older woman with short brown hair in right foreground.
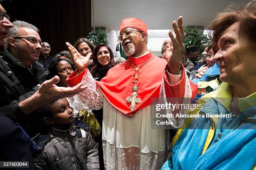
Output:
<instances>
[{"instance_id":1,"label":"face of older woman with short brown hair in right foreground","mask_svg":"<svg viewBox=\"0 0 256 170\"><path fill-rule=\"evenodd\" d=\"M230 25L218 41L218 52L213 61L220 66L220 80L233 85L248 79L256 72L256 50L248 40L238 36L239 24Z\"/></svg>"}]
</instances>

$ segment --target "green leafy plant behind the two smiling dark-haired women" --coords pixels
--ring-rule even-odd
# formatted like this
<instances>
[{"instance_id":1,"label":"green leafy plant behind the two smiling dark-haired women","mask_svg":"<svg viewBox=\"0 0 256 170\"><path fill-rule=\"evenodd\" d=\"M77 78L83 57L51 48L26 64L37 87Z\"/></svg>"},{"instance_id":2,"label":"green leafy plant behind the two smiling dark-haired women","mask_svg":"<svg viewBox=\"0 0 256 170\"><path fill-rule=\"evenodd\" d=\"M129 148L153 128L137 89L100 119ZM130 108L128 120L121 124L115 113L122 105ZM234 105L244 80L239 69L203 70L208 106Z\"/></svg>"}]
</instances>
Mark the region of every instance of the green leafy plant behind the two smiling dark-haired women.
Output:
<instances>
[{"instance_id":1,"label":"green leafy plant behind the two smiling dark-haired women","mask_svg":"<svg viewBox=\"0 0 256 170\"><path fill-rule=\"evenodd\" d=\"M100 43L108 44L107 35L105 32L100 30L100 28L95 28L94 31L89 32L87 35L87 39L92 41L94 45L98 45Z\"/></svg>"}]
</instances>

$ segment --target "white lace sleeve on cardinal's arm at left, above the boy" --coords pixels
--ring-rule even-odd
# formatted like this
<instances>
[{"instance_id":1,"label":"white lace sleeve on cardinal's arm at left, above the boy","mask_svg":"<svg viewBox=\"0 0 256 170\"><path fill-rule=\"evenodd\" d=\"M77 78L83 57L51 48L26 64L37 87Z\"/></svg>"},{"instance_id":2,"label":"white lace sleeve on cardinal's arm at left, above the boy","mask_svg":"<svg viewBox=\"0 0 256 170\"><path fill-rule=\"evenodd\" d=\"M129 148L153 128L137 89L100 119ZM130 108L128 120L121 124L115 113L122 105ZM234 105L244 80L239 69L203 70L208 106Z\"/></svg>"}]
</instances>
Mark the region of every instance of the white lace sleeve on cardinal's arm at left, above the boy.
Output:
<instances>
[{"instance_id":1,"label":"white lace sleeve on cardinal's arm at left, above the boy","mask_svg":"<svg viewBox=\"0 0 256 170\"><path fill-rule=\"evenodd\" d=\"M103 107L103 95L89 71L83 76L81 82L86 86L86 89L73 97L67 98L70 106L76 110L101 109Z\"/></svg>"}]
</instances>

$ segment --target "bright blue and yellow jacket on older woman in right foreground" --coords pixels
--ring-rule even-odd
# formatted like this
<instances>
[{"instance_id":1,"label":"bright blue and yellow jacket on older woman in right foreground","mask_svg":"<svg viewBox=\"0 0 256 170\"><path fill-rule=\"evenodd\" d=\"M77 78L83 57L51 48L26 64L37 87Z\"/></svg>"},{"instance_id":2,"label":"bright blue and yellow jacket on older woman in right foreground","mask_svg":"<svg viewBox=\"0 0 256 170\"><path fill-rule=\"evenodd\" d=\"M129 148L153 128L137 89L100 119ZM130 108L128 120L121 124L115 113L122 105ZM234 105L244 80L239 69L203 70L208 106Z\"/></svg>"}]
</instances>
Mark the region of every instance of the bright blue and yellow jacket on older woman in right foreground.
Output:
<instances>
[{"instance_id":1,"label":"bright blue and yellow jacket on older woman in right foreground","mask_svg":"<svg viewBox=\"0 0 256 170\"><path fill-rule=\"evenodd\" d=\"M236 117L229 110L232 96L232 87L222 83L217 90L198 100L203 104L202 109L187 114L230 114L231 117L186 119L172 141L171 157L162 170L251 170L255 167L256 93L238 100L241 113Z\"/></svg>"}]
</instances>

